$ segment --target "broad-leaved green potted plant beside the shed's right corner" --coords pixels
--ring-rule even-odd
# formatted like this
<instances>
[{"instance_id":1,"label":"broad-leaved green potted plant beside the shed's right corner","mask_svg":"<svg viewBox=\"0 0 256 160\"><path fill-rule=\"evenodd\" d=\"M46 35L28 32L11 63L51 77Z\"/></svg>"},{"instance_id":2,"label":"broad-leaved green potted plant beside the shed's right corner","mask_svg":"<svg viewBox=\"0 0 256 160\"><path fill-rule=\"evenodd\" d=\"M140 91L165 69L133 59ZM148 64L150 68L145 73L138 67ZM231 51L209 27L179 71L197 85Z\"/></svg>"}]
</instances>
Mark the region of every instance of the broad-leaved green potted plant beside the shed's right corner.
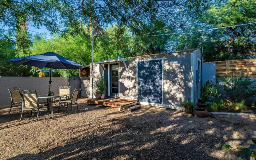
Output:
<instances>
[{"instance_id":1,"label":"broad-leaved green potted plant beside the shed's right corner","mask_svg":"<svg viewBox=\"0 0 256 160\"><path fill-rule=\"evenodd\" d=\"M202 103L205 103L207 100L209 100L210 96L220 96L220 94L218 94L218 89L216 88L216 85L214 85L209 80L204 83L204 86L201 87L200 91Z\"/></svg>"}]
</instances>

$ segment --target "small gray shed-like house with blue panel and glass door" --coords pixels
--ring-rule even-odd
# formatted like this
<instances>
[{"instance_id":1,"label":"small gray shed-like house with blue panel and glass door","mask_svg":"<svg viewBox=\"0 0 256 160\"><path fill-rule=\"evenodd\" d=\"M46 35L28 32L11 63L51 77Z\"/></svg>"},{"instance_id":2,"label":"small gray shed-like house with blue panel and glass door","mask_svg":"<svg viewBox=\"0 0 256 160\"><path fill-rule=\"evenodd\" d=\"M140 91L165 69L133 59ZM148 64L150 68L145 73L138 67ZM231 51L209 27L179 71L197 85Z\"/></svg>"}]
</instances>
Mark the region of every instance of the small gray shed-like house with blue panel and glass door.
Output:
<instances>
[{"instance_id":1,"label":"small gray shed-like house with blue panel and glass door","mask_svg":"<svg viewBox=\"0 0 256 160\"><path fill-rule=\"evenodd\" d=\"M181 110L182 101L195 104L200 95L201 56L199 49L192 49L95 62L89 85L103 75L106 96Z\"/></svg>"}]
</instances>

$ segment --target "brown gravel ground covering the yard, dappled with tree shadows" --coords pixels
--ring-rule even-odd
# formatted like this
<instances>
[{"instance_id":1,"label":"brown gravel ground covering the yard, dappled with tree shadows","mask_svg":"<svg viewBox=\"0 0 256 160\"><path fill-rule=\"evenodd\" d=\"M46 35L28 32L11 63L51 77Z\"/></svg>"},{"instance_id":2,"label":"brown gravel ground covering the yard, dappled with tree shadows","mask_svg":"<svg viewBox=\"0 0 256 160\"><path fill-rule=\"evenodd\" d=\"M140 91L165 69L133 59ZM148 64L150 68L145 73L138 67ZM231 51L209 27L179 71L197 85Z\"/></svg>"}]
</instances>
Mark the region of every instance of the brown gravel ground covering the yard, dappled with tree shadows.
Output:
<instances>
[{"instance_id":1,"label":"brown gravel ground covering the yard, dappled with tree shadows","mask_svg":"<svg viewBox=\"0 0 256 160\"><path fill-rule=\"evenodd\" d=\"M46 115L39 120L15 107L0 110L0 159L92 160L230 160L236 152L221 150L252 142L255 116L184 116L171 109L142 106L132 113L86 105L74 112Z\"/></svg>"}]
</instances>

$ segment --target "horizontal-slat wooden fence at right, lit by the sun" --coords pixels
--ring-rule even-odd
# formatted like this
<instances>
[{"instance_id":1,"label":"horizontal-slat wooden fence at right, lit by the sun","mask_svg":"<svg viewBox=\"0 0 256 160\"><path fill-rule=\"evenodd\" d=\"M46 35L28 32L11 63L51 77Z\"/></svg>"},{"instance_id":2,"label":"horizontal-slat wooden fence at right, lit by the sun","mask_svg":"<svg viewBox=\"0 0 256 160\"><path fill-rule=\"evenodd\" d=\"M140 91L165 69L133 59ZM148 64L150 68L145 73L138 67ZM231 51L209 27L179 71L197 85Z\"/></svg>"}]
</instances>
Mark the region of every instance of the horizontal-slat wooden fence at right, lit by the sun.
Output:
<instances>
[{"instance_id":1,"label":"horizontal-slat wooden fence at right, lit by the sun","mask_svg":"<svg viewBox=\"0 0 256 160\"><path fill-rule=\"evenodd\" d=\"M226 60L216 63L216 77L256 78L256 59Z\"/></svg>"}]
</instances>

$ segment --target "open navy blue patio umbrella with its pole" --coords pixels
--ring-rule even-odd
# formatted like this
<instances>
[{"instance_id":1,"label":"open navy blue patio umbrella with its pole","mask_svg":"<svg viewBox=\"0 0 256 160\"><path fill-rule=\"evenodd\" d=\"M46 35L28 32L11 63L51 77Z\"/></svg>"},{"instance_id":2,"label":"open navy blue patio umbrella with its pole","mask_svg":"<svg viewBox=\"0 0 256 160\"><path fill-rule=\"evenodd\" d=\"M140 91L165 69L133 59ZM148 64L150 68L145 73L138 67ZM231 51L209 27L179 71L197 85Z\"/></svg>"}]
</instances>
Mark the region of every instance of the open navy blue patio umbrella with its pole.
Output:
<instances>
[{"instance_id":1,"label":"open navy blue patio umbrella with its pole","mask_svg":"<svg viewBox=\"0 0 256 160\"><path fill-rule=\"evenodd\" d=\"M81 64L78 64L72 60L64 58L54 52L46 52L44 54L36 54L33 56L14 58L8 61L16 64L23 64L28 66L50 68L49 90L51 90L52 68L53 69L79 69L82 67Z\"/></svg>"}]
</instances>

